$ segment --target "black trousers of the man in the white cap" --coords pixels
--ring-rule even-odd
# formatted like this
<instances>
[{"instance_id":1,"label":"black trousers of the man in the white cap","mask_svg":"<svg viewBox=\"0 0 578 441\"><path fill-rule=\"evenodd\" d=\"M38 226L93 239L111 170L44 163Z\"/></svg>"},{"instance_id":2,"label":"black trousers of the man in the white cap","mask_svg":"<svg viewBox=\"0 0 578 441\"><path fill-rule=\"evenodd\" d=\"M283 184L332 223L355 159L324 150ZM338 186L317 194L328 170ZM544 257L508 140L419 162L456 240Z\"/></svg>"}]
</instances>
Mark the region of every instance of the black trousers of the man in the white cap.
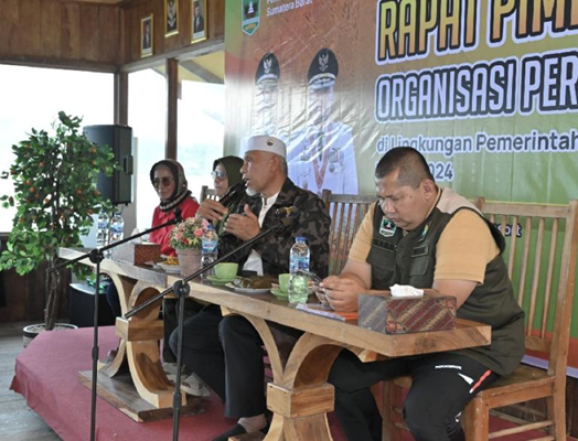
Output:
<instances>
[{"instance_id":1,"label":"black trousers of the man in the white cap","mask_svg":"<svg viewBox=\"0 0 578 441\"><path fill-rule=\"evenodd\" d=\"M274 333L282 333L286 344L296 342L301 332L269 323ZM170 340L176 351L178 335ZM225 402L225 417L243 418L265 413L265 366L263 341L243 316L223 318L217 305L206 306L189 319L183 330L183 362Z\"/></svg>"}]
</instances>

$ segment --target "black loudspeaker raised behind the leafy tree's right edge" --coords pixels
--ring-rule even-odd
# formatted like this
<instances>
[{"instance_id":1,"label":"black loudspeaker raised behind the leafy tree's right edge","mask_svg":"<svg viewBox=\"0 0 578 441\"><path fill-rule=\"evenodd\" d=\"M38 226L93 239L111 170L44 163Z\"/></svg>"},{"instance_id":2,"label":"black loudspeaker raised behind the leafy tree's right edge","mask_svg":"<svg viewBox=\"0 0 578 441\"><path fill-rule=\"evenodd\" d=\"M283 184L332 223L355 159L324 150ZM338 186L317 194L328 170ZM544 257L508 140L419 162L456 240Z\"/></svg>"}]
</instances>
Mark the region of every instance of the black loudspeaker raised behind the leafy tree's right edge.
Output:
<instances>
[{"instance_id":1,"label":"black loudspeaker raised behind the leafy tree's right edge","mask_svg":"<svg viewBox=\"0 0 578 441\"><path fill-rule=\"evenodd\" d=\"M120 164L113 176L98 175L97 189L114 205L132 202L132 128L128 126L86 126L84 135L97 146L108 146Z\"/></svg>"}]
</instances>

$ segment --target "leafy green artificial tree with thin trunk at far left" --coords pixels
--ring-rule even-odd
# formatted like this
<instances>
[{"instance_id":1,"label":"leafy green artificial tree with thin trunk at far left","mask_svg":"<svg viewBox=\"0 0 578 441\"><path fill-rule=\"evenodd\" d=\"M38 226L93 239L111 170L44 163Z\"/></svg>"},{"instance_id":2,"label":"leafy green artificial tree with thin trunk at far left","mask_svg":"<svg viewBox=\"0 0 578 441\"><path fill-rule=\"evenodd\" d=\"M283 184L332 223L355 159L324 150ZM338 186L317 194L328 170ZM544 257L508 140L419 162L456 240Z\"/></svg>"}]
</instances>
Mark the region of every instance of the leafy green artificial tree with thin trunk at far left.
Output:
<instances>
[{"instance_id":1,"label":"leafy green artificial tree with thin trunk at far left","mask_svg":"<svg viewBox=\"0 0 578 441\"><path fill-rule=\"evenodd\" d=\"M0 196L2 206L17 207L0 270L19 275L41 263L55 263L58 247L78 247L93 225L92 215L105 202L96 189L98 173L111 175L115 155L96 147L81 130L82 118L58 112L54 133L32 129L28 139L12 146L14 162L1 179L13 181L14 194ZM82 270L81 270L82 271ZM46 273L45 327L52 330L60 305L60 275Z\"/></svg>"}]
</instances>

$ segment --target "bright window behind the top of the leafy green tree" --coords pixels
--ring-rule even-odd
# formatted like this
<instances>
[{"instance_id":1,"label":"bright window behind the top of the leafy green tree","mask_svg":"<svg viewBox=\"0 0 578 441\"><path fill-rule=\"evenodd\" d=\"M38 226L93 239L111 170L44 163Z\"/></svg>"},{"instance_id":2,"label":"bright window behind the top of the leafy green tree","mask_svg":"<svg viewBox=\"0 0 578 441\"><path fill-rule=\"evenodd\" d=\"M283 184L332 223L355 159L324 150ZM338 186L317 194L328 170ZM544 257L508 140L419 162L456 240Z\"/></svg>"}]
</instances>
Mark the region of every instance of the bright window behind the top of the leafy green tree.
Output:
<instances>
[{"instance_id":1,"label":"bright window behind the top of the leafy green tree","mask_svg":"<svg viewBox=\"0 0 578 441\"><path fill-rule=\"evenodd\" d=\"M12 162L13 144L32 128L51 132L61 110L85 126L113 123L113 74L0 65L0 170ZM12 193L11 181L0 180L0 194ZM0 232L10 232L14 211L0 209Z\"/></svg>"}]
</instances>

